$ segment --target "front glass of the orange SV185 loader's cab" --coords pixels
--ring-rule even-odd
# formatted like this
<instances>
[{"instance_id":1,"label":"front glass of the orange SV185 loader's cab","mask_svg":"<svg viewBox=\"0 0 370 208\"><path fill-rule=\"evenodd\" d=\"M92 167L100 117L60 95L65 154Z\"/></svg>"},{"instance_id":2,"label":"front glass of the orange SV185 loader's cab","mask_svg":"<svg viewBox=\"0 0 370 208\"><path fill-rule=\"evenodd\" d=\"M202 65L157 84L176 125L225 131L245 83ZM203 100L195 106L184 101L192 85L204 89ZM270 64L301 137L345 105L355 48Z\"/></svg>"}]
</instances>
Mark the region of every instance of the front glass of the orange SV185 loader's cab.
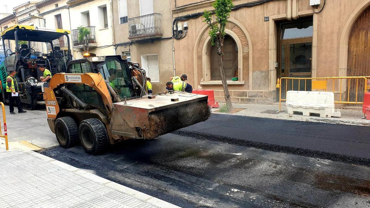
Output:
<instances>
[{"instance_id":1,"label":"front glass of the orange SV185 loader's cab","mask_svg":"<svg viewBox=\"0 0 370 208\"><path fill-rule=\"evenodd\" d=\"M128 74L127 65L121 63L116 58L105 60L98 66L100 73L104 74L104 79L109 81L109 84L121 97L134 97L131 77Z\"/></svg>"}]
</instances>

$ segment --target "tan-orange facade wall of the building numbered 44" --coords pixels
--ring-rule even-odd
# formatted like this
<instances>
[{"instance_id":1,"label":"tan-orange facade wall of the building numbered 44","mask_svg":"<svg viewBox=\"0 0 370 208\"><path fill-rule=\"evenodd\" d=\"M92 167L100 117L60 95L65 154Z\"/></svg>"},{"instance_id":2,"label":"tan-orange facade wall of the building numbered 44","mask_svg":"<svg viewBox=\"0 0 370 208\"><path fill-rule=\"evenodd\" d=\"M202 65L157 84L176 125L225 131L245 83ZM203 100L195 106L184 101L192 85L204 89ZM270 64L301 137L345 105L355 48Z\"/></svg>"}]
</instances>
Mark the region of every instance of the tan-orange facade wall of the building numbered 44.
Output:
<instances>
[{"instance_id":1,"label":"tan-orange facade wall of the building numbered 44","mask_svg":"<svg viewBox=\"0 0 370 208\"><path fill-rule=\"evenodd\" d=\"M251 1L235 0L233 3L237 5ZM210 2L201 1L199 4L181 7L181 4L194 2L176 0L177 9L174 8L173 16L179 17L205 9L212 10L209 6ZM239 35L240 41L244 37L248 40L248 44L245 44L248 47L243 46L242 49L244 84L229 85L233 101L242 103L274 101L272 98L275 96L273 90L275 90L277 77L273 63L277 56L277 21L293 20L297 18L297 15L300 17L313 16L313 76L338 76L340 59L347 58L345 54L340 58L343 28L346 27L346 22L353 18L353 13L356 13L355 10L359 4L368 2L369 0L326 0L325 7L319 14L313 14L309 0L275 0L259 6L232 11L228 28L239 28L242 31ZM265 16L269 16L270 21L265 22L263 20ZM222 100L222 85L201 84L201 81L205 79L204 71L207 70L204 64L206 57L203 56L202 48L206 45L208 37L208 29L202 20L202 17L186 20L189 25L187 36L182 40L175 40L176 74L194 74L191 78L188 76L189 83L195 86L193 88L216 90L216 96Z\"/></svg>"}]
</instances>

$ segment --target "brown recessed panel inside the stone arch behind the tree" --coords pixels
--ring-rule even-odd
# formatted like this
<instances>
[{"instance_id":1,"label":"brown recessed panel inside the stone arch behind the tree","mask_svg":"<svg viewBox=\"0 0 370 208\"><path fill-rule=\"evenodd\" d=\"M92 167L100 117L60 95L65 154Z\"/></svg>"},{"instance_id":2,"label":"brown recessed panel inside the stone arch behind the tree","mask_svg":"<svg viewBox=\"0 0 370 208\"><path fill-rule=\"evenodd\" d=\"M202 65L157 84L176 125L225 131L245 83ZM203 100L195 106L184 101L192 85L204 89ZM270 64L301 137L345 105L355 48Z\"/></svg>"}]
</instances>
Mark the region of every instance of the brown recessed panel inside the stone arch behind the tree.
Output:
<instances>
[{"instance_id":1,"label":"brown recessed panel inside the stone arch behind the tree","mask_svg":"<svg viewBox=\"0 0 370 208\"><path fill-rule=\"evenodd\" d=\"M238 46L235 40L228 35L223 40L223 67L226 80L238 77ZM216 46L211 47L211 80L221 80Z\"/></svg>"}]
</instances>

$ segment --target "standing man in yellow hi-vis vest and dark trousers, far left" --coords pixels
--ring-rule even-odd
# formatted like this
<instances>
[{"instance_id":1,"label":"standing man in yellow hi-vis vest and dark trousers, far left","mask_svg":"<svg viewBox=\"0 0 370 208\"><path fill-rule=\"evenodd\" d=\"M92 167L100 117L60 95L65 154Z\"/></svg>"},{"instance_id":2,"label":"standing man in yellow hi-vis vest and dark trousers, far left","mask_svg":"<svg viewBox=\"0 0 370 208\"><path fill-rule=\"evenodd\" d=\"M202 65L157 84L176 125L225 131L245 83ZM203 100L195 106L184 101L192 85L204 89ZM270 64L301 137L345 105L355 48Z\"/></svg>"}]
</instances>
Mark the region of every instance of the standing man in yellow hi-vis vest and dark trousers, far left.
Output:
<instances>
[{"instance_id":1,"label":"standing man in yellow hi-vis vest and dark trousers, far left","mask_svg":"<svg viewBox=\"0 0 370 208\"><path fill-rule=\"evenodd\" d=\"M14 113L14 101L17 104L18 113L26 113L27 111L24 111L22 109L21 100L19 99L19 90L18 90L18 83L15 78L17 72L14 70L9 71L9 76L6 78L6 93L9 96L9 111L10 114L16 114Z\"/></svg>"}]
</instances>

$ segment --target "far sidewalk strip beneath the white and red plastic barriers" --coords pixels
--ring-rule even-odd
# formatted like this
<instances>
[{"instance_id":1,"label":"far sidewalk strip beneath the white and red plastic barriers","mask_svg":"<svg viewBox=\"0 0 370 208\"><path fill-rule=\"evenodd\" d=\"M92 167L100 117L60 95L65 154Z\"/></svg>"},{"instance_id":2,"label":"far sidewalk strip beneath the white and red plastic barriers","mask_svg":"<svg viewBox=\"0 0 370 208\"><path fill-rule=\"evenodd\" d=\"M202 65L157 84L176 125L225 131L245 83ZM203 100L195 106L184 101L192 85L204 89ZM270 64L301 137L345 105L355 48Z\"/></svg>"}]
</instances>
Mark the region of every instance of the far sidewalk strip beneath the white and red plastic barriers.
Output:
<instances>
[{"instance_id":1,"label":"far sidewalk strip beneath the white and red plastic barriers","mask_svg":"<svg viewBox=\"0 0 370 208\"><path fill-rule=\"evenodd\" d=\"M220 106L223 103L219 103ZM274 119L283 119L291 121L310 121L310 122L324 122L324 123L333 123L333 124L347 124L347 125L363 125L370 126L370 120L362 119L363 113L362 109L340 109L342 117L340 118L320 118L319 114L311 114L311 116L304 116L302 113L295 113L289 115L286 112L285 104L282 103L282 111L279 111L279 105L257 105L257 104L242 104L242 103L233 103L234 108L244 108L242 111L233 113L232 115L242 115L250 117L260 117L260 118L274 118ZM213 108L214 113L219 110L218 108ZM225 113L221 113L225 114ZM229 114L229 113L226 113Z\"/></svg>"}]
</instances>

